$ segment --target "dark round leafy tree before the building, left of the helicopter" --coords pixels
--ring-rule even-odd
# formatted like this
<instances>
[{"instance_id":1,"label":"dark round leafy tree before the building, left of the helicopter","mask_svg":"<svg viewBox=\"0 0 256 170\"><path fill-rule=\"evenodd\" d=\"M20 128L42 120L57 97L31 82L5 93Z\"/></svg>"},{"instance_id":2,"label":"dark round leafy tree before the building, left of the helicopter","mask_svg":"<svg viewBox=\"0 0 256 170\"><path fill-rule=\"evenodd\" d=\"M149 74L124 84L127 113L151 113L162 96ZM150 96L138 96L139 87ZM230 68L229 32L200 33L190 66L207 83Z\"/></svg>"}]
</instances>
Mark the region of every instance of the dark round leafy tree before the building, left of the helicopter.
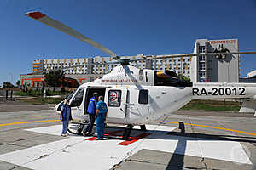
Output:
<instances>
[{"instance_id":1,"label":"dark round leafy tree before the building, left of the helicopter","mask_svg":"<svg viewBox=\"0 0 256 170\"><path fill-rule=\"evenodd\" d=\"M45 79L44 81L50 86L50 87L60 87L61 82L63 82L64 79L64 73L63 71L49 71L49 73L46 73L44 75Z\"/></svg>"}]
</instances>

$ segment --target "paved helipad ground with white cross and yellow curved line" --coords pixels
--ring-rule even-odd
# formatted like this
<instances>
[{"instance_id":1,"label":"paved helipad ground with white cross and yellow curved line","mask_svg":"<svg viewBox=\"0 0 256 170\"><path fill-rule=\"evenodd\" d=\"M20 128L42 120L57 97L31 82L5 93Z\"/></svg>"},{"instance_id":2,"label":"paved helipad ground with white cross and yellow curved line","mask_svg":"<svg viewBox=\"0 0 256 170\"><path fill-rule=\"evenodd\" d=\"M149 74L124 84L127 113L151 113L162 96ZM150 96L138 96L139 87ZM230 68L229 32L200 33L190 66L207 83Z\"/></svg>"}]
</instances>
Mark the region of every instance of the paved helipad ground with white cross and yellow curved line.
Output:
<instances>
[{"instance_id":1,"label":"paved helipad ground with white cross and yellow curved line","mask_svg":"<svg viewBox=\"0 0 256 170\"><path fill-rule=\"evenodd\" d=\"M61 137L53 111L1 112L0 169L253 169L253 116L181 112L167 116L131 139L96 141ZM184 133L178 128L183 122ZM76 128L72 125L70 128ZM124 128L109 125L106 134Z\"/></svg>"}]
</instances>

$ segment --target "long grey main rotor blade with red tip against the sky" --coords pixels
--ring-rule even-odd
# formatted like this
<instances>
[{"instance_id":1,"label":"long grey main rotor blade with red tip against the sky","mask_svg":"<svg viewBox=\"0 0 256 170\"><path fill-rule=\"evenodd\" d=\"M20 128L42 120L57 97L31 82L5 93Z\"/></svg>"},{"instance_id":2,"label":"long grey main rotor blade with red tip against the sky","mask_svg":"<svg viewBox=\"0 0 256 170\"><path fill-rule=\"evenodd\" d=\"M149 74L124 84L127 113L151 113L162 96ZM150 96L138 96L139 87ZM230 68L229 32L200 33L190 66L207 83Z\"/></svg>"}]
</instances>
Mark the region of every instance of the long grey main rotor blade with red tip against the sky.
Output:
<instances>
[{"instance_id":1,"label":"long grey main rotor blade with red tip against the sky","mask_svg":"<svg viewBox=\"0 0 256 170\"><path fill-rule=\"evenodd\" d=\"M60 21L53 20L53 19L49 18L49 16L46 16L45 14L42 14L40 12L28 12L28 13L26 13L26 16L29 16L34 20L38 20L39 22L42 22L48 26L51 26L51 27L53 27L59 31L62 31L72 37L75 37L82 42L89 43L91 46L100 49L102 52L109 54L110 56L116 57L115 53L113 53L108 48L105 48L100 43L93 41L89 37L85 37L84 35L80 34L78 31L75 31L72 28L62 24Z\"/></svg>"}]
</instances>

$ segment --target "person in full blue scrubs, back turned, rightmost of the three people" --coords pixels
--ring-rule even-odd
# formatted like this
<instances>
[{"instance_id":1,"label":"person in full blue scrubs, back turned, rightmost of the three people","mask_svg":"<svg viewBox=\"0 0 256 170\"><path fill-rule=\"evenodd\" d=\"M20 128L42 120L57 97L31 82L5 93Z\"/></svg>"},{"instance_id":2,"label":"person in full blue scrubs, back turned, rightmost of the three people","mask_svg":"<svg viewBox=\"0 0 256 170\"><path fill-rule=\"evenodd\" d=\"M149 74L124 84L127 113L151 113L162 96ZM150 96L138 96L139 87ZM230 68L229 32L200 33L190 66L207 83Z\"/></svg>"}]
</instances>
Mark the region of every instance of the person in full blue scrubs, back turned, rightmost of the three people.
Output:
<instances>
[{"instance_id":1,"label":"person in full blue scrubs, back turned, rightmost of the three people","mask_svg":"<svg viewBox=\"0 0 256 170\"><path fill-rule=\"evenodd\" d=\"M104 122L108 113L108 107L103 101L103 96L99 97L99 102L96 106L96 131L97 131L97 140L103 140L104 136Z\"/></svg>"}]
</instances>

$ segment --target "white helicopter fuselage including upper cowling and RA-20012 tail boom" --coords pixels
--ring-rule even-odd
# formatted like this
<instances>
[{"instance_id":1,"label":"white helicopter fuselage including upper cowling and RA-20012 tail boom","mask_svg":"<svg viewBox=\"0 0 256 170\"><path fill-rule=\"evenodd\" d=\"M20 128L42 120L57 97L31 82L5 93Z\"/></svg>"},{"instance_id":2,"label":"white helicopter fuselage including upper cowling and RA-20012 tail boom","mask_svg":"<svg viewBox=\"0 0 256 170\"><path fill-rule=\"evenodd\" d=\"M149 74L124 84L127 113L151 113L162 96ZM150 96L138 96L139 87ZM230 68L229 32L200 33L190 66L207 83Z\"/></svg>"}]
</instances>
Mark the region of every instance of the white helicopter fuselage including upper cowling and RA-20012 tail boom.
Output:
<instances>
[{"instance_id":1,"label":"white helicopter fuselage including upper cowling and RA-20012 tail boom","mask_svg":"<svg viewBox=\"0 0 256 170\"><path fill-rule=\"evenodd\" d=\"M196 83L192 87L154 85L154 71L119 66L96 79L81 85L70 104L74 119L83 120L93 92L104 97L108 105L107 122L143 125L172 114L192 99L253 98L253 83ZM55 106L55 111L59 105Z\"/></svg>"}]
</instances>

